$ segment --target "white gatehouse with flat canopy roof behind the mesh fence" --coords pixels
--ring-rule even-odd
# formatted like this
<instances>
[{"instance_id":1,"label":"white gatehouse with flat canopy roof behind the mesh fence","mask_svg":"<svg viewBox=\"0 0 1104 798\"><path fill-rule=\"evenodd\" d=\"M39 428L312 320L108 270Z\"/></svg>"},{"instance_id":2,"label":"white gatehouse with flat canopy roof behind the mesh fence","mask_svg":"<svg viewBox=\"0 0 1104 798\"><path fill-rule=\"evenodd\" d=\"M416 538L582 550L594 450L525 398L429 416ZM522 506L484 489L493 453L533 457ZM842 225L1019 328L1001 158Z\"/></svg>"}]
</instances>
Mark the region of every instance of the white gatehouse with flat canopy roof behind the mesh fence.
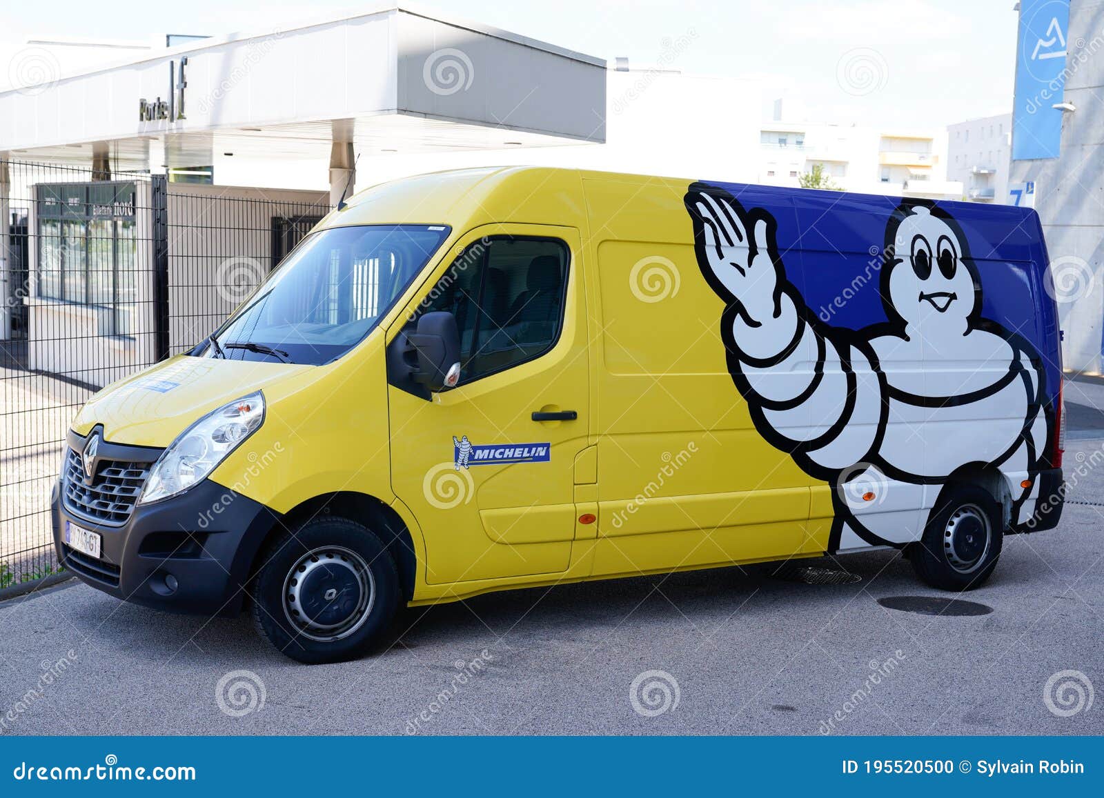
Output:
<instances>
[{"instance_id":1,"label":"white gatehouse with flat canopy roof behind the mesh fence","mask_svg":"<svg viewBox=\"0 0 1104 798\"><path fill-rule=\"evenodd\" d=\"M394 7L171 47L43 41L13 57L0 344L83 384L210 332L242 298L233 267L263 278L285 228L354 190L358 155L368 185L373 156L605 138L604 61ZM159 199L148 173L166 169L222 188L170 183Z\"/></svg>"}]
</instances>

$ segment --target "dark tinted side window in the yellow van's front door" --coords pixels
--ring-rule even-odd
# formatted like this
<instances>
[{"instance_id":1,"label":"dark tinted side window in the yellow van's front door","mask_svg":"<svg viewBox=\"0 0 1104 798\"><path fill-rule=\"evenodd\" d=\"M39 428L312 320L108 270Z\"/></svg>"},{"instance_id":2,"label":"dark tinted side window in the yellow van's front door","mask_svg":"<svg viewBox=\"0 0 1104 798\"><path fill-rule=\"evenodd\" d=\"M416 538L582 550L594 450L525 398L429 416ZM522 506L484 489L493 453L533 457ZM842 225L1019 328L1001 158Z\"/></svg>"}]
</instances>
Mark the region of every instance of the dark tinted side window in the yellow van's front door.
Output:
<instances>
[{"instance_id":1,"label":"dark tinted side window in the yellow van's front door","mask_svg":"<svg viewBox=\"0 0 1104 798\"><path fill-rule=\"evenodd\" d=\"M548 352L560 338L569 252L562 241L495 236L473 244L431 291L460 332L460 382Z\"/></svg>"}]
</instances>

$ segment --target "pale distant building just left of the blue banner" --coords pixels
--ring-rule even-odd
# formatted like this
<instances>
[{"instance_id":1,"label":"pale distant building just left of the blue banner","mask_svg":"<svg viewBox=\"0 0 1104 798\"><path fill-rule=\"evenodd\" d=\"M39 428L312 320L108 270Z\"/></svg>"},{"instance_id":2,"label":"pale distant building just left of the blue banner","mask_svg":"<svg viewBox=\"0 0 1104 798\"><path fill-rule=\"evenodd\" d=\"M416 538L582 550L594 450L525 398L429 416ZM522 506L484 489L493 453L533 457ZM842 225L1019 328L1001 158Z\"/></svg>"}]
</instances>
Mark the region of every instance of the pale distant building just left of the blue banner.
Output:
<instances>
[{"instance_id":1,"label":"pale distant building just left of the blue banner","mask_svg":"<svg viewBox=\"0 0 1104 798\"><path fill-rule=\"evenodd\" d=\"M947 127L947 177L963 184L963 199L1009 204L1011 141L1011 114Z\"/></svg>"}]
</instances>

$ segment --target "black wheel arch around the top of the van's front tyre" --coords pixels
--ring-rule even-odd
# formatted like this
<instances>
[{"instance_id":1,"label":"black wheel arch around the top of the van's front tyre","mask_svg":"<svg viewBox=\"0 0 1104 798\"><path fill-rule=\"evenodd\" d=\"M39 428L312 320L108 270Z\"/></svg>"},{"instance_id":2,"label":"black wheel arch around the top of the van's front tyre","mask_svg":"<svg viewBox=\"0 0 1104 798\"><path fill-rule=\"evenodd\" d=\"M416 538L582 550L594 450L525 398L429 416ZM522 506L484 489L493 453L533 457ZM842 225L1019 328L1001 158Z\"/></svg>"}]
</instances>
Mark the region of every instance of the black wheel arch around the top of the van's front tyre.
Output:
<instances>
[{"instance_id":1,"label":"black wheel arch around the top of the van's front tyre","mask_svg":"<svg viewBox=\"0 0 1104 798\"><path fill-rule=\"evenodd\" d=\"M403 598L410 602L414 597L414 582L417 573L417 553L414 540L402 518L391 507L367 493L354 491L337 491L323 493L291 508L280 522L273 525L257 552L263 552L270 540L278 536L285 529L290 529L315 515L337 515L368 526L379 536L395 562L399 571L399 583ZM250 576L256 576L261 557L254 558L250 566Z\"/></svg>"}]
</instances>

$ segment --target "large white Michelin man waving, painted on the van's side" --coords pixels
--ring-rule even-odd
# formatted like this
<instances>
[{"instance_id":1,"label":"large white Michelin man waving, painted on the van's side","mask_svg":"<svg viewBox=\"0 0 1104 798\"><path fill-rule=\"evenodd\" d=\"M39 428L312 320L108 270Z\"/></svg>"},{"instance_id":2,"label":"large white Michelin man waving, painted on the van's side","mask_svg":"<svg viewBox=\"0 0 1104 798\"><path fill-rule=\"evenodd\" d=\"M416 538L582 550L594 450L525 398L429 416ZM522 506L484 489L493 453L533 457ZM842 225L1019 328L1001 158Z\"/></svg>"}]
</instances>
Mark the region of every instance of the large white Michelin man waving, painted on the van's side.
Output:
<instances>
[{"instance_id":1,"label":"large white Michelin man waving, painted on the van's side","mask_svg":"<svg viewBox=\"0 0 1104 798\"><path fill-rule=\"evenodd\" d=\"M806 306L769 213L705 183L690 187L686 208L698 264L726 304L729 372L756 429L834 488L830 550L919 540L959 469L996 467L1010 522L1031 517L1049 439L1044 372L1026 340L981 318L953 219L921 202L892 214L879 275L888 321L852 330Z\"/></svg>"}]
</instances>

